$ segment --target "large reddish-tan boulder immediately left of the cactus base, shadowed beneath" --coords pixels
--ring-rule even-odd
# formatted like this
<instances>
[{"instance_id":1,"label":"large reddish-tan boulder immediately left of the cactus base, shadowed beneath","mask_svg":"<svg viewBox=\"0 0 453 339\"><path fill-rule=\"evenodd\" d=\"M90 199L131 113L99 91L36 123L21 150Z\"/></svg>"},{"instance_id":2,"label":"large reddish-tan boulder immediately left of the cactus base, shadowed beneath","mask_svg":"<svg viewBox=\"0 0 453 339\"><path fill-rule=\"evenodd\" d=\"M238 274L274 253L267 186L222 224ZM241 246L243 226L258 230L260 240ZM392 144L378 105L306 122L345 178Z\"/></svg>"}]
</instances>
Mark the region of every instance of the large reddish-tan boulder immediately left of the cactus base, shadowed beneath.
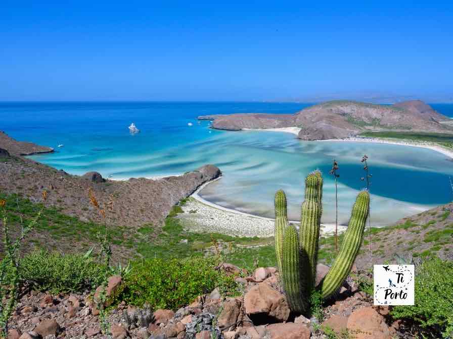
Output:
<instances>
[{"instance_id":1,"label":"large reddish-tan boulder immediately left of the cactus base, shadowed beneath","mask_svg":"<svg viewBox=\"0 0 453 339\"><path fill-rule=\"evenodd\" d=\"M245 294L244 308L255 324L272 322L273 319L286 321L290 314L285 296L265 283L253 286Z\"/></svg>"}]
</instances>

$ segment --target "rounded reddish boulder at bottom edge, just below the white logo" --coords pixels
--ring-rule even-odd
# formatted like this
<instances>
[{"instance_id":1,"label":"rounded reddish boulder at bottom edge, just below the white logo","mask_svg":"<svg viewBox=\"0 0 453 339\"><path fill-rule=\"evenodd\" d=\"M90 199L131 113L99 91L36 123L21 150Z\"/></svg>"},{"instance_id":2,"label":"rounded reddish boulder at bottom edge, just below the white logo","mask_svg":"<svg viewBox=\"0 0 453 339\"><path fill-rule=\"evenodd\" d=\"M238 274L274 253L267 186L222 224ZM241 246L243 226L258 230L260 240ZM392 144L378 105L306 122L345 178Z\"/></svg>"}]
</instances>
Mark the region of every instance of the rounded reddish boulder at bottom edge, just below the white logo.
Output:
<instances>
[{"instance_id":1,"label":"rounded reddish boulder at bottom edge, just below the white logo","mask_svg":"<svg viewBox=\"0 0 453 339\"><path fill-rule=\"evenodd\" d=\"M352 312L347 329L356 339L391 339L384 317L371 306Z\"/></svg>"}]
</instances>

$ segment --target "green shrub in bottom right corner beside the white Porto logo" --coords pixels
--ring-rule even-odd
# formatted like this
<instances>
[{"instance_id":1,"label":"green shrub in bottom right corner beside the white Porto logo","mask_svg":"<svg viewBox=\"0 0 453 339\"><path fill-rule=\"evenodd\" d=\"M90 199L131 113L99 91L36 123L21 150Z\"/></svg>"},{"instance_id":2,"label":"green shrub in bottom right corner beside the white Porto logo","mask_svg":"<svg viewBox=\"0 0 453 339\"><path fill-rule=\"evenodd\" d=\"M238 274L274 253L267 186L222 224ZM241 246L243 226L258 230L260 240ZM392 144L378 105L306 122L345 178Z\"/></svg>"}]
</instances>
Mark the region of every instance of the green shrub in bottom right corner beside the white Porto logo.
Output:
<instances>
[{"instance_id":1,"label":"green shrub in bottom right corner beside the white Porto logo","mask_svg":"<svg viewBox=\"0 0 453 339\"><path fill-rule=\"evenodd\" d=\"M417 268L415 305L395 306L394 318L415 321L428 331L453 334L453 262L433 258Z\"/></svg>"}]
</instances>

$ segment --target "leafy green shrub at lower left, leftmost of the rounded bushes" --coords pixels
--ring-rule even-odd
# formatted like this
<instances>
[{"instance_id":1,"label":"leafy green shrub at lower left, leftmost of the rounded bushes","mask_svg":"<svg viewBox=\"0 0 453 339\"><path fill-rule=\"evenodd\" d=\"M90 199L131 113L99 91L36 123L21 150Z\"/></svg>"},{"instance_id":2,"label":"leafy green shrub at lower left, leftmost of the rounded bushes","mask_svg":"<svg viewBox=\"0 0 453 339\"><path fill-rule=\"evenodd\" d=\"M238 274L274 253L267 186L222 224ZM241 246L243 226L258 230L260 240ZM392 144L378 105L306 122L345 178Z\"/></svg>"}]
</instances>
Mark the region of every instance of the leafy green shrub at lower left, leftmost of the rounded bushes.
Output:
<instances>
[{"instance_id":1,"label":"leafy green shrub at lower left, leftmost of the rounded bushes","mask_svg":"<svg viewBox=\"0 0 453 339\"><path fill-rule=\"evenodd\" d=\"M20 280L34 289L53 294L82 292L98 286L103 268L82 254L39 251L26 255L20 262Z\"/></svg>"}]
</instances>

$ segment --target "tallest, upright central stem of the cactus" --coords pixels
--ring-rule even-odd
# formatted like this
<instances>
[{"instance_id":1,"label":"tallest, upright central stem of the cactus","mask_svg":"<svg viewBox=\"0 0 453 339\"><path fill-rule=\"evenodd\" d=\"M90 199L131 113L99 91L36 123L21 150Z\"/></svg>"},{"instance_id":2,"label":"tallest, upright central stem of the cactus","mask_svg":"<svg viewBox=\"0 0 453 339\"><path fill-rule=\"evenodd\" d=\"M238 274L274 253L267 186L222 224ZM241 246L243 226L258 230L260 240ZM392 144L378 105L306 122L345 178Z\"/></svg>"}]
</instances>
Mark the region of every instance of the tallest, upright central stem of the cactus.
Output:
<instances>
[{"instance_id":1,"label":"tallest, upright central stem of the cactus","mask_svg":"<svg viewBox=\"0 0 453 339\"><path fill-rule=\"evenodd\" d=\"M301 269L308 275L307 293L310 293L316 278L318 243L321 228L323 177L321 172L310 173L305 179L305 200L300 216L300 249L306 254Z\"/></svg>"}]
</instances>

